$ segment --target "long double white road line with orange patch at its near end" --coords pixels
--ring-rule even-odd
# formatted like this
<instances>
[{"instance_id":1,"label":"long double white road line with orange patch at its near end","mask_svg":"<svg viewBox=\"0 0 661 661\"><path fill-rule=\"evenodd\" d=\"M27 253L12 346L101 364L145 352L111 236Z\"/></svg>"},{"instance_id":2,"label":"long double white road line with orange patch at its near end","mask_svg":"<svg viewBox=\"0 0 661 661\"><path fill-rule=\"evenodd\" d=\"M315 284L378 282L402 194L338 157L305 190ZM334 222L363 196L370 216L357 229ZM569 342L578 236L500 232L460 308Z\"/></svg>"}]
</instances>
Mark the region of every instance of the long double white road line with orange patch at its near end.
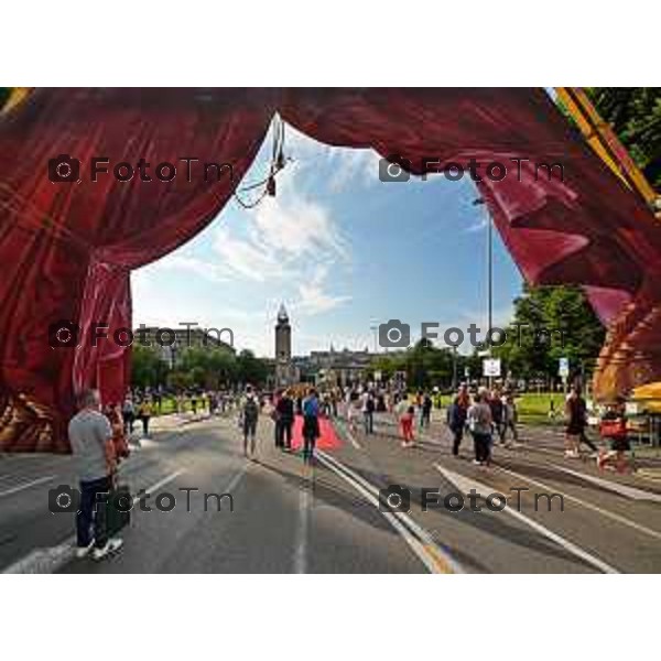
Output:
<instances>
[{"instance_id":1,"label":"long double white road line with orange patch at its near end","mask_svg":"<svg viewBox=\"0 0 661 661\"><path fill-rule=\"evenodd\" d=\"M397 532L399 532L430 573L463 573L462 566L443 551L436 544L432 535L418 525L411 517L404 512L381 511L379 509L379 489L377 487L351 470L348 466L321 449L317 451L317 457L327 468L348 483L368 502L377 508L377 511L383 516Z\"/></svg>"}]
</instances>

